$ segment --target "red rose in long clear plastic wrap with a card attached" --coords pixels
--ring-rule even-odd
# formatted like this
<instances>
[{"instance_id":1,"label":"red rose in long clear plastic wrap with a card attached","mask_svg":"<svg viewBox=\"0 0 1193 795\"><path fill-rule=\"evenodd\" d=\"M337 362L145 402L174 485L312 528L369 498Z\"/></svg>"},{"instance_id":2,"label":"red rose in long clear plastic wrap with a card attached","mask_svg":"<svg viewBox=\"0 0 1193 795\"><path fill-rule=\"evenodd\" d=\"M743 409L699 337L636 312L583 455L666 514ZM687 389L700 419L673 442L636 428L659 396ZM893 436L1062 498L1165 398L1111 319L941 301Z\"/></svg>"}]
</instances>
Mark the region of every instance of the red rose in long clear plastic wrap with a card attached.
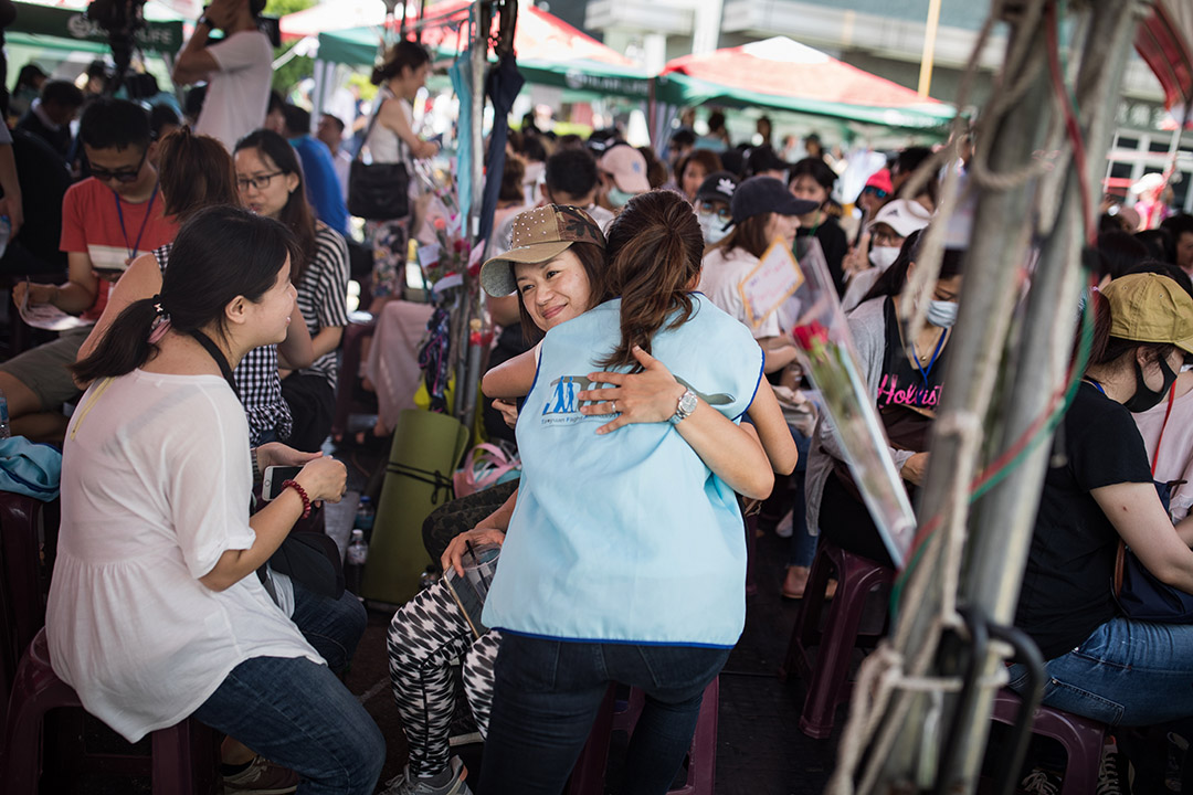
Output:
<instances>
[{"instance_id":1,"label":"red rose in long clear plastic wrap with a card attached","mask_svg":"<svg viewBox=\"0 0 1193 795\"><path fill-rule=\"evenodd\" d=\"M902 566L915 534L915 514L861 378L820 242L811 235L799 237L795 254L785 243L774 243L740 291L755 327L778 312L780 328L791 331L799 362L820 392L821 408L833 423L858 491L891 559Z\"/></svg>"}]
</instances>

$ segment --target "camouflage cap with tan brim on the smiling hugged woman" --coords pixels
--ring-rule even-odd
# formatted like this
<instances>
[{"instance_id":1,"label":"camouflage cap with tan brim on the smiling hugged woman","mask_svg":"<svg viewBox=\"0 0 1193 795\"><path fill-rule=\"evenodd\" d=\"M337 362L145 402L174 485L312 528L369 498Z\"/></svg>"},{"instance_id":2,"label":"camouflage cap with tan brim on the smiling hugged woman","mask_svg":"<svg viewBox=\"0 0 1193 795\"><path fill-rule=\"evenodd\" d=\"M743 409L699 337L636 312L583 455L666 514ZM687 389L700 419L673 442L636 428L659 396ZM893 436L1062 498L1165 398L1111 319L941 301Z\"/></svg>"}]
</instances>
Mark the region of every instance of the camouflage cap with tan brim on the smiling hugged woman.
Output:
<instances>
[{"instance_id":1,"label":"camouflage cap with tan brim on the smiling hugged woman","mask_svg":"<svg viewBox=\"0 0 1193 795\"><path fill-rule=\"evenodd\" d=\"M519 213L514 218L512 248L481 267L481 286L495 298L508 296L518 288L514 262L546 262L573 243L605 248L600 226L580 207L549 204Z\"/></svg>"}]
</instances>

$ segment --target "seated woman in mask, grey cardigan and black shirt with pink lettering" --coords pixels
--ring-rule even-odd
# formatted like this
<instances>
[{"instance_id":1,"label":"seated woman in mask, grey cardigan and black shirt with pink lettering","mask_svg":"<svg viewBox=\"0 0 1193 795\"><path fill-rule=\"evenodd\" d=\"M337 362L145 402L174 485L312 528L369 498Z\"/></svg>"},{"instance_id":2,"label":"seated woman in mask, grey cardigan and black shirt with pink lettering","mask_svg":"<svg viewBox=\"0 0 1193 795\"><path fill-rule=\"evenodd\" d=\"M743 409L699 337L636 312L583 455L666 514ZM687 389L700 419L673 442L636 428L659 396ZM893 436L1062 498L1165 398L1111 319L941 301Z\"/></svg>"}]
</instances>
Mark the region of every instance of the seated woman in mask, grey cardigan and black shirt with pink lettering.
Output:
<instances>
[{"instance_id":1,"label":"seated woman in mask, grey cardigan and black shirt with pink lettering","mask_svg":"<svg viewBox=\"0 0 1193 795\"><path fill-rule=\"evenodd\" d=\"M900 309L908 299L901 293L915 271L922 235L907 238L895 263L848 318L861 375L886 430L891 458L909 489L923 483L962 290L963 251L946 250L926 308L927 323L915 337L905 335ZM832 421L822 416L808 456L808 527L818 527L842 549L891 566L845 460Z\"/></svg>"}]
</instances>

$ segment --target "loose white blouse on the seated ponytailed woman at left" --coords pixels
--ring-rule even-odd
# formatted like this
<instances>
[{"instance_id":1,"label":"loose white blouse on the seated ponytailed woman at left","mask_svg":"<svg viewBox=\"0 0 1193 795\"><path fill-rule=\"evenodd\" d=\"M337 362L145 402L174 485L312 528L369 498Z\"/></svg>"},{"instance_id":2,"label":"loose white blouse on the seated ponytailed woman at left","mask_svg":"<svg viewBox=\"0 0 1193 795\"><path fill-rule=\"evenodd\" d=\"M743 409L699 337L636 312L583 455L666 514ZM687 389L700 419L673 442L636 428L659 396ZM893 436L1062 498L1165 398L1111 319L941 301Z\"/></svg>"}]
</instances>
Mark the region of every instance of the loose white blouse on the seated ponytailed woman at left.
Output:
<instances>
[{"instance_id":1,"label":"loose white blouse on the seated ponytailed woman at left","mask_svg":"<svg viewBox=\"0 0 1193 795\"><path fill-rule=\"evenodd\" d=\"M100 380L70 421L50 659L130 741L193 713L247 659L323 662L256 574L199 582L253 545L252 477L245 409L218 375Z\"/></svg>"}]
</instances>

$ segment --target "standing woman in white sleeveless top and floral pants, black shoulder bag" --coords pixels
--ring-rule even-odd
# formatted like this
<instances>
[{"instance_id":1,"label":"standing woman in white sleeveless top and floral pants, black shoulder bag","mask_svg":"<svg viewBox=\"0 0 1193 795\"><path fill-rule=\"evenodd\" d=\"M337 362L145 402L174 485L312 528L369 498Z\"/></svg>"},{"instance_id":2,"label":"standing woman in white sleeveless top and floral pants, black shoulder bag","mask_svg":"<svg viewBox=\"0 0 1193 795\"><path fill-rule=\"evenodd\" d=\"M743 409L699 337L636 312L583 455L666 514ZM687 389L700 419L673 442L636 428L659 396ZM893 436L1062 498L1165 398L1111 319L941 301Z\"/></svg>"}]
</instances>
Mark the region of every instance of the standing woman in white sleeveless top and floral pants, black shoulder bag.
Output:
<instances>
[{"instance_id":1,"label":"standing woman in white sleeveless top and floral pants, black shoulder bag","mask_svg":"<svg viewBox=\"0 0 1193 795\"><path fill-rule=\"evenodd\" d=\"M381 86L377 93L377 120L372 124L364 145L375 163L404 162L413 175L414 159L433 157L439 145L424 141L414 132L412 103L427 82L431 54L416 42L402 39L385 55L385 61L373 68L372 82ZM390 297L400 297L406 279L406 249L409 241L409 215L403 218L369 221L365 236L373 250L372 293L376 313Z\"/></svg>"}]
</instances>

